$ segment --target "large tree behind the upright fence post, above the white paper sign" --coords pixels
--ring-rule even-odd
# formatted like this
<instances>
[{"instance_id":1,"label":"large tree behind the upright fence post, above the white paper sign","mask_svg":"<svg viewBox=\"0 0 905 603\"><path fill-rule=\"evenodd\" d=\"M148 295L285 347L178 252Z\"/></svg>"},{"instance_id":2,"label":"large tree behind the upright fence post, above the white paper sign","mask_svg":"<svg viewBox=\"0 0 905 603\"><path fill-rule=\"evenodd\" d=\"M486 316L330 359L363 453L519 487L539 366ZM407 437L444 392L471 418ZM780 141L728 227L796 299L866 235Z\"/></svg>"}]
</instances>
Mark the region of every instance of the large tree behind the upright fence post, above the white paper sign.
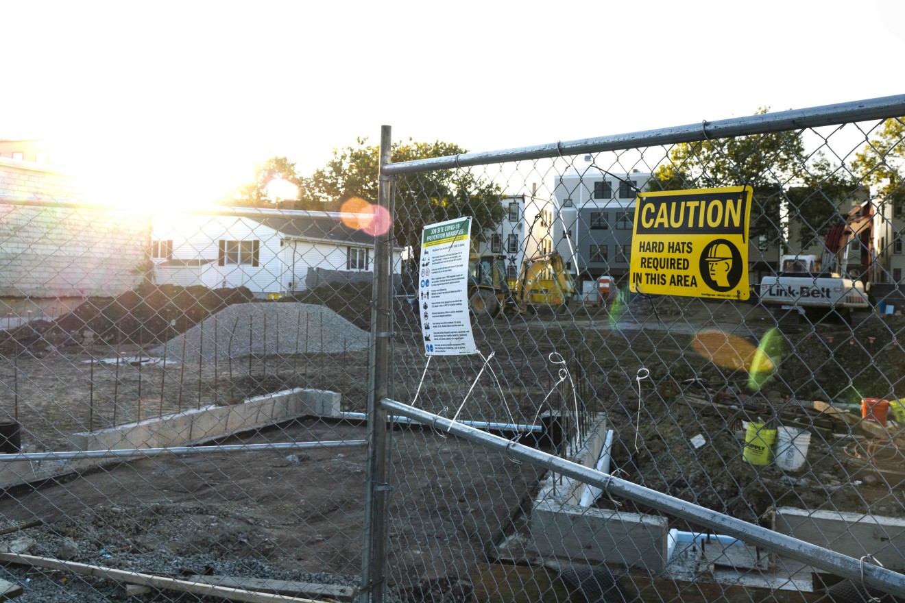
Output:
<instances>
[{"instance_id":1,"label":"large tree behind the upright fence post, above the white paper sign","mask_svg":"<svg viewBox=\"0 0 905 603\"><path fill-rule=\"evenodd\" d=\"M452 143L396 142L393 163L459 155L467 151ZM300 209L339 211L349 199L377 203L380 150L358 138L356 146L333 150L327 165L301 181ZM495 229L505 213L500 186L469 170L436 170L405 175L395 181L395 240L418 247L424 224L472 216L472 236Z\"/></svg>"}]
</instances>

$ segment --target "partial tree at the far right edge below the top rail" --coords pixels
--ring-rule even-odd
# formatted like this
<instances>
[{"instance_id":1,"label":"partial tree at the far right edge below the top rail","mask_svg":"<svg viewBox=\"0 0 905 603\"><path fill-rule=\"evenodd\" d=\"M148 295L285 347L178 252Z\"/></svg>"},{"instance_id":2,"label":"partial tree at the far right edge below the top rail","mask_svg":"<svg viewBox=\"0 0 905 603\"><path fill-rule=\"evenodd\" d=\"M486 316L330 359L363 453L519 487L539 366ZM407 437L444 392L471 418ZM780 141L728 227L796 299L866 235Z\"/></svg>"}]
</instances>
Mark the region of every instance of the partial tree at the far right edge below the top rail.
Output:
<instances>
[{"instance_id":1,"label":"partial tree at the far right edge below the top rail","mask_svg":"<svg viewBox=\"0 0 905 603\"><path fill-rule=\"evenodd\" d=\"M889 118L855 155L853 170L865 184L876 186L878 195L901 210L905 205L905 118Z\"/></svg>"}]
</instances>

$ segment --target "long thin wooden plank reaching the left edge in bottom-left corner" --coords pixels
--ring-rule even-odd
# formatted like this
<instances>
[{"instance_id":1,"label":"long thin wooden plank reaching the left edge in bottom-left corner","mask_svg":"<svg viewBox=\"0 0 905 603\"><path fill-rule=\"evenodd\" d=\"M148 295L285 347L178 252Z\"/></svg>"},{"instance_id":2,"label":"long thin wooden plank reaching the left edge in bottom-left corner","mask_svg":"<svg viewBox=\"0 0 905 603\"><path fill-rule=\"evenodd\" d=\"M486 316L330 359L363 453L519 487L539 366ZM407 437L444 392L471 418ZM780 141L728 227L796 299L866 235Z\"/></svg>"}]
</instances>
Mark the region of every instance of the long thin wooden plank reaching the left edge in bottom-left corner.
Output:
<instances>
[{"instance_id":1,"label":"long thin wooden plank reaching the left edge in bottom-left corner","mask_svg":"<svg viewBox=\"0 0 905 603\"><path fill-rule=\"evenodd\" d=\"M210 584L195 584L195 582L189 582L187 580L152 576L150 574L138 573L138 571L113 570L111 568L101 567L100 565L87 565L75 561L61 561L47 557L35 557L33 555L19 555L13 552L0 553L0 561L5 563L17 563L19 565L30 565L38 568L46 568L48 570L71 571L72 573L84 576L111 579L118 582L126 582L128 584L149 586L155 589L189 592L193 595L201 595L202 597L221 598L224 601L241 601L243 603L326 603L325 601L317 601L311 598L294 598L265 592L231 589L229 587L214 586Z\"/></svg>"}]
</instances>

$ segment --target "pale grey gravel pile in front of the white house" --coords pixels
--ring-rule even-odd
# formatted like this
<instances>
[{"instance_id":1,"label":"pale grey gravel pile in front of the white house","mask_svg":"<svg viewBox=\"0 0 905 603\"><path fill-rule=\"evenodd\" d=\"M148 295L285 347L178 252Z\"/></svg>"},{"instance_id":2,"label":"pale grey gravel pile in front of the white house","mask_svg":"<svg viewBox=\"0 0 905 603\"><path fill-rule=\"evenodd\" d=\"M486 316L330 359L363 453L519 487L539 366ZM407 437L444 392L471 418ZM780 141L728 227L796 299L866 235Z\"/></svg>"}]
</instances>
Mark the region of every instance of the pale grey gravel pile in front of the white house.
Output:
<instances>
[{"instance_id":1,"label":"pale grey gravel pile in front of the white house","mask_svg":"<svg viewBox=\"0 0 905 603\"><path fill-rule=\"evenodd\" d=\"M149 353L186 363L248 355L345 353L367 349L368 338L367 331L325 306L234 304Z\"/></svg>"}]
</instances>

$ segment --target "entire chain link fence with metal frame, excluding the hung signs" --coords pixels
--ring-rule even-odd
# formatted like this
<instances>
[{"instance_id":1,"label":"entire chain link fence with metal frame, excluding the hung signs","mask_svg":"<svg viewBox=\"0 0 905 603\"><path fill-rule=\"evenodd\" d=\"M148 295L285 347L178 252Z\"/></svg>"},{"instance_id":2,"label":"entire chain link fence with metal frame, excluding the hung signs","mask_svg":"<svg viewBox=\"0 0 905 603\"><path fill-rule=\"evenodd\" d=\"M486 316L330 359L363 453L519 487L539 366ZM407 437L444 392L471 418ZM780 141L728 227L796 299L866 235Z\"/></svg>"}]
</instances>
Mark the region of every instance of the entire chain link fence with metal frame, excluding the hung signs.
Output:
<instances>
[{"instance_id":1,"label":"entire chain link fence with metal frame, excluding the hung signs","mask_svg":"<svg viewBox=\"0 0 905 603\"><path fill-rule=\"evenodd\" d=\"M3 195L0 587L905 596L902 115L406 164L386 128L386 228ZM638 195L719 186L752 191L748 299L631 287ZM459 216L479 353L426 356L421 231Z\"/></svg>"}]
</instances>

